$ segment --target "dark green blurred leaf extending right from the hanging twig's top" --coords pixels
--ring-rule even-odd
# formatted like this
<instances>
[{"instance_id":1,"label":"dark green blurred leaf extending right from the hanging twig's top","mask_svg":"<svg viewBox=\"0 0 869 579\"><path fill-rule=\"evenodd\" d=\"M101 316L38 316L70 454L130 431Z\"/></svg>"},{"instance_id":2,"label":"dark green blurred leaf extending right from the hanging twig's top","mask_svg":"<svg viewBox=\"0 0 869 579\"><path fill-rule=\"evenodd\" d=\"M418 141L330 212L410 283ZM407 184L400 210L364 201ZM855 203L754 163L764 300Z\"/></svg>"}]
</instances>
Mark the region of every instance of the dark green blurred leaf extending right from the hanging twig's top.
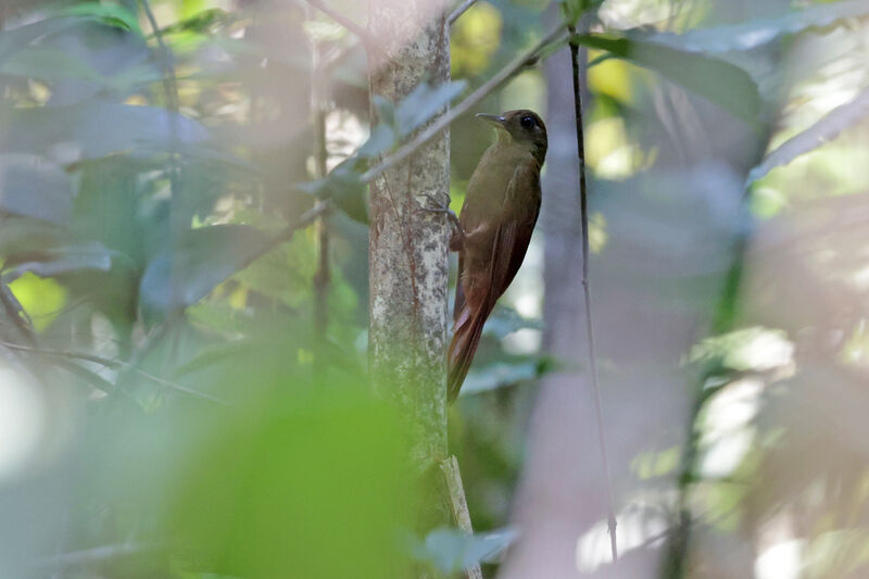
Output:
<instances>
[{"instance_id":1,"label":"dark green blurred leaf extending right from the hanging twig's top","mask_svg":"<svg viewBox=\"0 0 869 579\"><path fill-rule=\"evenodd\" d=\"M722 60L670 47L613 35L578 35L581 45L606 50L618 58L651 68L665 78L705 97L753 127L760 111L760 95L752 77Z\"/></svg>"}]
</instances>

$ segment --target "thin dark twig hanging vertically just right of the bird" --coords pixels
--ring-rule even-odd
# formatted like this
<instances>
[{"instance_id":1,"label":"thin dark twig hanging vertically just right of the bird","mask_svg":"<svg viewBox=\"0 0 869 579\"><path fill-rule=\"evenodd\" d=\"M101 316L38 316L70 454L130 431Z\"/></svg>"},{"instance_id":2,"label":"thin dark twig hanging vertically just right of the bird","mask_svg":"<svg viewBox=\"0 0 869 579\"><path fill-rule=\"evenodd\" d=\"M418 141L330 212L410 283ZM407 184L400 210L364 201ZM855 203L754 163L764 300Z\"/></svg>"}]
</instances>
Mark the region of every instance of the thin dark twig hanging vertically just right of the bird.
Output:
<instances>
[{"instance_id":1,"label":"thin dark twig hanging vertically just right of the bird","mask_svg":"<svg viewBox=\"0 0 869 579\"><path fill-rule=\"evenodd\" d=\"M585 138L582 130L582 97L579 91L579 45L572 40L576 29L571 25L570 32L570 63L574 70L574 110L577 119L577 153L579 158L579 205L582 219L582 292L585 298L585 338L589 344L589 367L591 370L591 385L594 392L594 416L597 421L597 437L601 442L601 463L606 481L607 499L607 529L609 530L609 549L613 561L618 558L618 544L616 542L616 512L613 507L613 482L609 476L609 460L606 453L606 438L604 436L604 419L601 411L601 385L597 379L597 358L594 353L594 324L591 315L591 286L589 284L589 188L585 181Z\"/></svg>"}]
</instances>

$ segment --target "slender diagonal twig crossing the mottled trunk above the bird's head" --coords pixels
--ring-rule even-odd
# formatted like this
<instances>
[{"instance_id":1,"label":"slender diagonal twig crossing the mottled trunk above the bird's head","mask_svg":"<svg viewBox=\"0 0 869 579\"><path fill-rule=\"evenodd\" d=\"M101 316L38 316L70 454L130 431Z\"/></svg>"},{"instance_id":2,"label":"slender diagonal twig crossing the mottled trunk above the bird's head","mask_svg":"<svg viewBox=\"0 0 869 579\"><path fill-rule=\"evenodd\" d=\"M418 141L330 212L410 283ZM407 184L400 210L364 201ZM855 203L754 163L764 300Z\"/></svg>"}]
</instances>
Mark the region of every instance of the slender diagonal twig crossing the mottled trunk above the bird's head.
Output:
<instances>
[{"instance_id":1,"label":"slender diagonal twig crossing the mottled trunk above the bird's head","mask_svg":"<svg viewBox=\"0 0 869 579\"><path fill-rule=\"evenodd\" d=\"M470 109L474 108L475 104L477 104L486 97L488 97L490 92L498 89L501 85L509 80L516 73L525 68L529 63L534 62L539 52L543 50L546 46L549 46L551 42L553 42L553 40L555 40L558 37L558 35L561 35L563 32L564 32L564 25L553 28L532 49L530 49L529 51L527 51L526 53L524 53L522 55L520 55L519 58L517 58L516 60L504 66L484 85L482 85L480 88L471 92L465 100L459 102L457 105L450 109L450 112L438 117L438 119L434 121L426 130L424 130L415 138L401 146L398 149L398 151L383 159L383 161L381 161L378 165L363 173L362 176L360 177L362 182L373 181L377 176L382 174L385 171L394 167L395 165L398 165L399 163L401 163L402 161L414 154L417 149L419 149L428 141L437 137L441 130L449 127L456 118L470 111Z\"/></svg>"}]
</instances>

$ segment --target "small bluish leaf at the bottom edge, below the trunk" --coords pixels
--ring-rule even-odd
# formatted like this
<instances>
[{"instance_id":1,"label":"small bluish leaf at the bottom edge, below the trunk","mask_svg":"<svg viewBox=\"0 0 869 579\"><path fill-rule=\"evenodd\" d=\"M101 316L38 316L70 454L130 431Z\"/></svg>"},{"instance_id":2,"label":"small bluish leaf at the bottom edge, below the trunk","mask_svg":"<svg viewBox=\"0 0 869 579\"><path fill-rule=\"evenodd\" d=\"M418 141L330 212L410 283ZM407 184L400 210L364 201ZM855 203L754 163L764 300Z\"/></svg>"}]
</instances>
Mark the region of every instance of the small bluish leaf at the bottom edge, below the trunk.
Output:
<instances>
[{"instance_id":1,"label":"small bluish leaf at the bottom edge, below the trunk","mask_svg":"<svg viewBox=\"0 0 869 579\"><path fill-rule=\"evenodd\" d=\"M441 572L453 574L494 561L518 536L518 531L509 528L475 534L458 529L434 529L424 543L415 546L414 555Z\"/></svg>"}]
</instances>

